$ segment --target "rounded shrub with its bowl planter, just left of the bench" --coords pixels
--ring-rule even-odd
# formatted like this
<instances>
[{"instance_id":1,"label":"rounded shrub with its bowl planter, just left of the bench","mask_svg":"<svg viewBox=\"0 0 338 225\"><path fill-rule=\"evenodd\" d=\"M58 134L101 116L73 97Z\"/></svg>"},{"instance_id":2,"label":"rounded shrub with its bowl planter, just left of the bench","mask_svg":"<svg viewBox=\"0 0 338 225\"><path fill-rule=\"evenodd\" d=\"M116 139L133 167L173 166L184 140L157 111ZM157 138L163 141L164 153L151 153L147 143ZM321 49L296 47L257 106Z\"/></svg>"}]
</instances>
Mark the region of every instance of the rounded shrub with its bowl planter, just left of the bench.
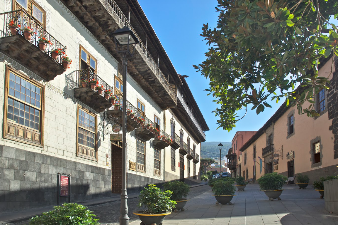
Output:
<instances>
[{"instance_id":1,"label":"rounded shrub with its bowl planter, just left of the bench","mask_svg":"<svg viewBox=\"0 0 338 225\"><path fill-rule=\"evenodd\" d=\"M265 192L269 200L273 201L274 199L281 200L280 196L286 180L288 180L286 176L273 172L264 174L257 181L261 190Z\"/></svg>"}]
</instances>

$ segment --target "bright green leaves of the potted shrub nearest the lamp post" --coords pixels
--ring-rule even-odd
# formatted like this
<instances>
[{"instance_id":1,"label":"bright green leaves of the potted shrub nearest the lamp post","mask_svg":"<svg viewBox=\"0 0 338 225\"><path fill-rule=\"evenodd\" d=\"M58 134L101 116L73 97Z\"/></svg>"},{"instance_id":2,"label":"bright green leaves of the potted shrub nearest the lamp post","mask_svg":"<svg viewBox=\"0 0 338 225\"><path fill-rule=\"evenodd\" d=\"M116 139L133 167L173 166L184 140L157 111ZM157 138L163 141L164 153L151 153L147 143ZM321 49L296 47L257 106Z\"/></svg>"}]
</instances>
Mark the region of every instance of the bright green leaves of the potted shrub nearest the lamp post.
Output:
<instances>
[{"instance_id":1,"label":"bright green leaves of the potted shrub nearest the lamp post","mask_svg":"<svg viewBox=\"0 0 338 225\"><path fill-rule=\"evenodd\" d=\"M149 184L148 188L144 188L140 193L139 207L146 207L148 210L144 212L156 214L162 212L169 212L177 203L170 200L172 191L161 191L160 188L154 184Z\"/></svg>"}]
</instances>

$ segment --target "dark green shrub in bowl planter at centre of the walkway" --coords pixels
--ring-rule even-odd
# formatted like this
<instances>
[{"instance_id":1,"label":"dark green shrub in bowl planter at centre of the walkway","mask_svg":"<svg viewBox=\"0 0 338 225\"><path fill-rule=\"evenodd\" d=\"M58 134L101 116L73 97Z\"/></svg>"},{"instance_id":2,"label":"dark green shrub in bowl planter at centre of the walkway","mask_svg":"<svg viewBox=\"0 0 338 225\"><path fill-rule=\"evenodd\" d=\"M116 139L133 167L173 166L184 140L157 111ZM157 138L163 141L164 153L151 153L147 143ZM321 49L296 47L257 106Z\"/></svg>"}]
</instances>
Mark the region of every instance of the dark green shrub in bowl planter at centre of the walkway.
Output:
<instances>
[{"instance_id":1,"label":"dark green shrub in bowl planter at centre of the walkway","mask_svg":"<svg viewBox=\"0 0 338 225\"><path fill-rule=\"evenodd\" d=\"M216 204L221 203L225 205L229 203L231 205L231 200L235 196L236 187L233 186L234 182L231 180L218 180L213 183L211 187L212 192L217 200Z\"/></svg>"}]
</instances>

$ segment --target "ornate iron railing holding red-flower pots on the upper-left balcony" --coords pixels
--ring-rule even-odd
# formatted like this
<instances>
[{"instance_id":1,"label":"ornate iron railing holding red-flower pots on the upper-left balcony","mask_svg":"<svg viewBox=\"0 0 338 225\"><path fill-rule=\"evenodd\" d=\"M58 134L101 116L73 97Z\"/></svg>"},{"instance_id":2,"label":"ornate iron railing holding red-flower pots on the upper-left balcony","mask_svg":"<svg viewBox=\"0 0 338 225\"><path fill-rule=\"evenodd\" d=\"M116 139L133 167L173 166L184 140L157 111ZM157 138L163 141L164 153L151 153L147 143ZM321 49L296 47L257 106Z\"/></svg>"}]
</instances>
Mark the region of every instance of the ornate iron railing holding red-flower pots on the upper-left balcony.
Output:
<instances>
[{"instance_id":1,"label":"ornate iron railing holding red-flower pots on the upper-left balcony","mask_svg":"<svg viewBox=\"0 0 338 225\"><path fill-rule=\"evenodd\" d=\"M65 52L66 54L66 46L62 45L59 41L57 41L51 34L49 34L38 22L36 19L25 13L23 10L16 10L6 13L1 13L0 16L3 16L3 32L1 37L13 36L10 32L8 23L13 21L17 27L17 35L24 36L24 28L29 27L32 29L32 36L29 40L33 45L39 47L39 38L45 38L51 42L51 44L47 44L45 50L42 50L44 53L52 56L52 51L54 49L61 49L61 52ZM58 63L62 63L62 57L59 55L55 60Z\"/></svg>"}]
</instances>

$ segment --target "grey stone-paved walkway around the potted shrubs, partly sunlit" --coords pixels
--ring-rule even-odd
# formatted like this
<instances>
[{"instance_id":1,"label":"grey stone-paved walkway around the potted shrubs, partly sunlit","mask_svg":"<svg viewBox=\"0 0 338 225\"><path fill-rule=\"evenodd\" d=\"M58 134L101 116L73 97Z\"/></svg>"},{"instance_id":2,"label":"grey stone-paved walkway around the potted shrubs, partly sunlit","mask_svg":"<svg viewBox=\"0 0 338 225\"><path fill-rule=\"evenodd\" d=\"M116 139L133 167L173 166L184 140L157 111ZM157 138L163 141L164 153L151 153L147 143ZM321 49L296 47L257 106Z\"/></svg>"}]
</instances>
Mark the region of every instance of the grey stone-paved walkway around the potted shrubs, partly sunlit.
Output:
<instances>
[{"instance_id":1,"label":"grey stone-paved walkway around the potted shrubs, partly sunlit","mask_svg":"<svg viewBox=\"0 0 338 225\"><path fill-rule=\"evenodd\" d=\"M172 212L163 225L338 225L338 215L324 208L324 199L312 187L284 186L281 201L268 200L257 184L236 191L232 205L216 205L211 188L192 199L185 211ZM140 220L129 223L140 224Z\"/></svg>"}]
</instances>

